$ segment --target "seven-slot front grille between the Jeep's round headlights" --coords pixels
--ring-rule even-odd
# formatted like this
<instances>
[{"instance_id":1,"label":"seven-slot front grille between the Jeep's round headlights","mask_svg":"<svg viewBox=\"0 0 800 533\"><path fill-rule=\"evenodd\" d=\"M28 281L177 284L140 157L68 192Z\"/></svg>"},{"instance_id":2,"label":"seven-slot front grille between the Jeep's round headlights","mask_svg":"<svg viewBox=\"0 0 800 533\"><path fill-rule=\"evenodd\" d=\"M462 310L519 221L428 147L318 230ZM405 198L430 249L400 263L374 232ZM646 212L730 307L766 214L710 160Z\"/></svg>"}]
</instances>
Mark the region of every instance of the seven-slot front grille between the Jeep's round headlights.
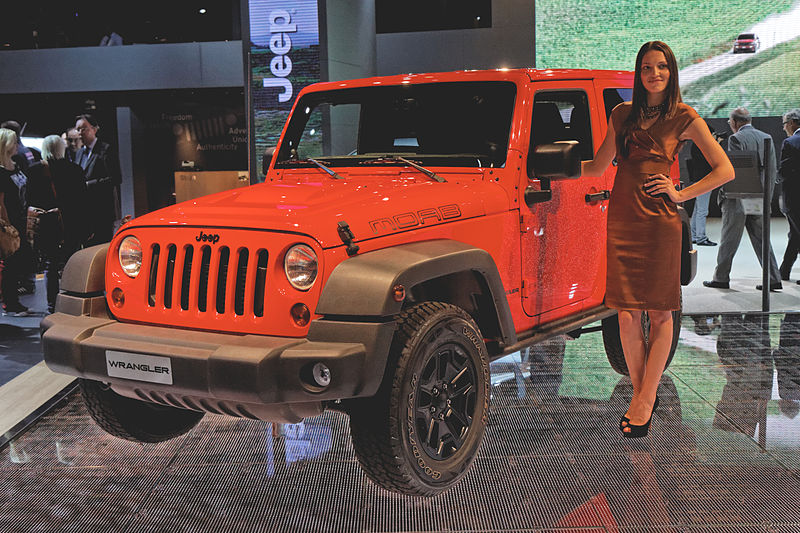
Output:
<instances>
[{"instance_id":1,"label":"seven-slot front grille between the Jeep's round headlights","mask_svg":"<svg viewBox=\"0 0 800 533\"><path fill-rule=\"evenodd\" d=\"M251 258L247 248L170 243L153 244L149 252L149 307L264 316L267 250Z\"/></svg>"}]
</instances>

